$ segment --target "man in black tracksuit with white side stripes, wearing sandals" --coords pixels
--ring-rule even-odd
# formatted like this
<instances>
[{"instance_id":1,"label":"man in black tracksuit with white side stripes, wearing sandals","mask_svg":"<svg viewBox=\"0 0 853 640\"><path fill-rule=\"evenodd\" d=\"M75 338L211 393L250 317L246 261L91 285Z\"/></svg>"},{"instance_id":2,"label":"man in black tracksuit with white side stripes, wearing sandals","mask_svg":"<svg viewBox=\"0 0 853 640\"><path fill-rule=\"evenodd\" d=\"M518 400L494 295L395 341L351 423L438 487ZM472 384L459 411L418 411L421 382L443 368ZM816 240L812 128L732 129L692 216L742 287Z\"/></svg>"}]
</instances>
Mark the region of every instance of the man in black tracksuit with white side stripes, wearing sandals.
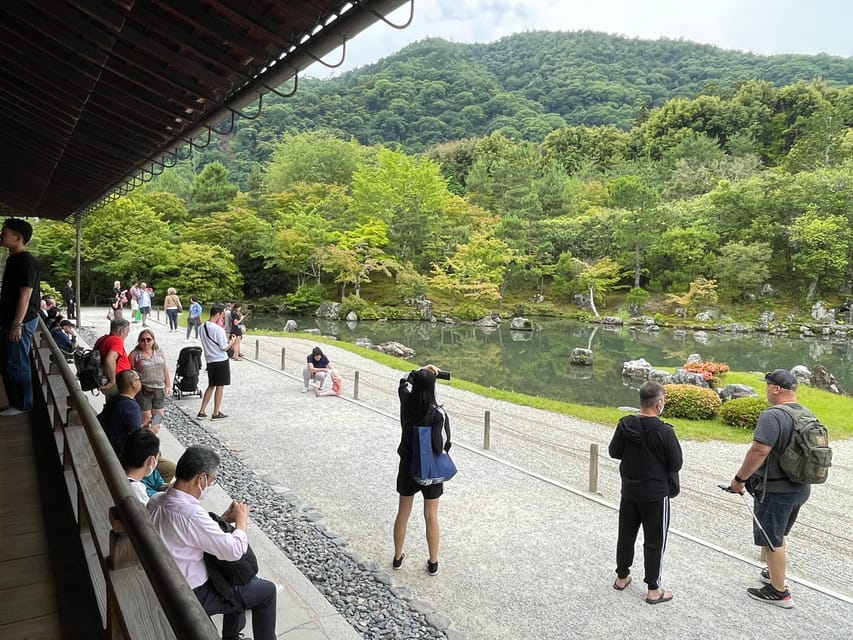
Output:
<instances>
[{"instance_id":1,"label":"man in black tracksuit with white side stripes, wearing sandals","mask_svg":"<svg viewBox=\"0 0 853 640\"><path fill-rule=\"evenodd\" d=\"M678 493L681 445L672 426L658 416L666 403L664 388L657 382L640 387L640 414L619 420L610 441L610 457L621 460L622 500L619 503L619 541L616 544L616 581L622 591L631 583L634 543L643 525L643 557L646 602L672 600L661 586L661 563L669 530L669 499Z\"/></svg>"}]
</instances>

